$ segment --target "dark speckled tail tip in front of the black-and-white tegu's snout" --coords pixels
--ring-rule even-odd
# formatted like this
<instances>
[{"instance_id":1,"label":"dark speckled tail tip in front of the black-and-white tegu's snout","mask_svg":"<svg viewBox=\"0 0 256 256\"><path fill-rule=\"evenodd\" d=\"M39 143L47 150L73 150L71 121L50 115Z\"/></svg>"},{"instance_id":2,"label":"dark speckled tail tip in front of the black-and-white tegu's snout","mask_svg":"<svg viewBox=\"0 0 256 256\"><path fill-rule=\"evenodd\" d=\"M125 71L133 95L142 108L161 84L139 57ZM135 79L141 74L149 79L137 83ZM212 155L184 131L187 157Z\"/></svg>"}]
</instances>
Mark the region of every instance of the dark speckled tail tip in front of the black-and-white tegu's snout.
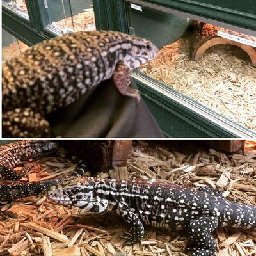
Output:
<instances>
[{"instance_id":1,"label":"dark speckled tail tip in front of the black-and-white tegu's snout","mask_svg":"<svg viewBox=\"0 0 256 256\"><path fill-rule=\"evenodd\" d=\"M0 185L0 201L9 201L26 196L35 196L60 183L62 179L49 179L17 184Z\"/></svg>"}]
</instances>

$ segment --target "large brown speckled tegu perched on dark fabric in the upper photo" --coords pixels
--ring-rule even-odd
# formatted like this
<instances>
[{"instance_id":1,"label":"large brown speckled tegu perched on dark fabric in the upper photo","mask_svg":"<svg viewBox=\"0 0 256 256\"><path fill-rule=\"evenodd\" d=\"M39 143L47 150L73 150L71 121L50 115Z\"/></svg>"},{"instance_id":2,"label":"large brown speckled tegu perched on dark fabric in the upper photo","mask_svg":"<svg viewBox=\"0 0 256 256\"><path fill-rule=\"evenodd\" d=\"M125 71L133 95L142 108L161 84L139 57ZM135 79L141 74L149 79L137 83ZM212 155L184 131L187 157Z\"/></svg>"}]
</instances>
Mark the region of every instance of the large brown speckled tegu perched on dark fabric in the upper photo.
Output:
<instances>
[{"instance_id":1,"label":"large brown speckled tegu perched on dark fabric in the upper photo","mask_svg":"<svg viewBox=\"0 0 256 256\"><path fill-rule=\"evenodd\" d=\"M150 41L115 31L79 31L36 44L3 63L4 136L49 136L45 114L111 77L122 95L139 100L129 88L131 70L157 52Z\"/></svg>"}]
</instances>

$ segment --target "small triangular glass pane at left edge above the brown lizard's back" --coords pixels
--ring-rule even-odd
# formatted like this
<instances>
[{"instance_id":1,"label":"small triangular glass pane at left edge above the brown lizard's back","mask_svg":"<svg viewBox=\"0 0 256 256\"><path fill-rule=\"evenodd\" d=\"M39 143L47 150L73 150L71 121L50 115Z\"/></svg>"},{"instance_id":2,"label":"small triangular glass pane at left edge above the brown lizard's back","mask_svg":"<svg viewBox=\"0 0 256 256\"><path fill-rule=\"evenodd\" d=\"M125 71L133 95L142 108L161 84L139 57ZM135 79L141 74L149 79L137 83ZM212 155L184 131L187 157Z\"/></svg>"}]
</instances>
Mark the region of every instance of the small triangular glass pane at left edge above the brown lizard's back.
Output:
<instances>
[{"instance_id":1,"label":"small triangular glass pane at left edge above the brown lizard's back","mask_svg":"<svg viewBox=\"0 0 256 256\"><path fill-rule=\"evenodd\" d=\"M26 51L28 48L28 45L2 29L2 61L10 60L20 52Z\"/></svg>"}]
</instances>

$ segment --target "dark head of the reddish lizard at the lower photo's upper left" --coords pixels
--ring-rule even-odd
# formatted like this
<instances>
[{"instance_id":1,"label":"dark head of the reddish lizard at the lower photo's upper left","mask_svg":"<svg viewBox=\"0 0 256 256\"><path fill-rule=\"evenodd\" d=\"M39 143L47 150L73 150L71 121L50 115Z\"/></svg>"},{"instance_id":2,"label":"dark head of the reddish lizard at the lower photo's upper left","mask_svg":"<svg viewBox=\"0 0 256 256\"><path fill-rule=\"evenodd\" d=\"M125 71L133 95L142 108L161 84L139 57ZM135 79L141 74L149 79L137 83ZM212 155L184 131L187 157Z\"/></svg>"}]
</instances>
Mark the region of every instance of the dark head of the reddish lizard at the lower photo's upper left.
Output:
<instances>
[{"instance_id":1,"label":"dark head of the reddish lizard at the lower photo's upper left","mask_svg":"<svg viewBox=\"0 0 256 256\"><path fill-rule=\"evenodd\" d=\"M51 156L54 152L58 150L58 145L49 140L31 140L29 141L29 146L25 150L25 154L22 159L39 159L41 157Z\"/></svg>"}]
</instances>

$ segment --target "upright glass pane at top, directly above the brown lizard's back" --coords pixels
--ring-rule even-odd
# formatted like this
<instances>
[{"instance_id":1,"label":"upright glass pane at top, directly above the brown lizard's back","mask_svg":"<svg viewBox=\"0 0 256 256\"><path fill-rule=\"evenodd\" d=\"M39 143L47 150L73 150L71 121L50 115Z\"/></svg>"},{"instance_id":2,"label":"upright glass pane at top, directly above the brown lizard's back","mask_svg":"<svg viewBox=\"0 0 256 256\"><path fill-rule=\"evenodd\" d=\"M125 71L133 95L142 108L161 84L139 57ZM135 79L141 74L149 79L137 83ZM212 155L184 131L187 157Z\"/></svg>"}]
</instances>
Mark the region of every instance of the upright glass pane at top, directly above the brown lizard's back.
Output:
<instances>
[{"instance_id":1,"label":"upright glass pane at top, directly above the brown lizard's back","mask_svg":"<svg viewBox=\"0 0 256 256\"><path fill-rule=\"evenodd\" d=\"M43 0L41 6L48 28L61 33L96 29L92 0Z\"/></svg>"}]
</instances>

